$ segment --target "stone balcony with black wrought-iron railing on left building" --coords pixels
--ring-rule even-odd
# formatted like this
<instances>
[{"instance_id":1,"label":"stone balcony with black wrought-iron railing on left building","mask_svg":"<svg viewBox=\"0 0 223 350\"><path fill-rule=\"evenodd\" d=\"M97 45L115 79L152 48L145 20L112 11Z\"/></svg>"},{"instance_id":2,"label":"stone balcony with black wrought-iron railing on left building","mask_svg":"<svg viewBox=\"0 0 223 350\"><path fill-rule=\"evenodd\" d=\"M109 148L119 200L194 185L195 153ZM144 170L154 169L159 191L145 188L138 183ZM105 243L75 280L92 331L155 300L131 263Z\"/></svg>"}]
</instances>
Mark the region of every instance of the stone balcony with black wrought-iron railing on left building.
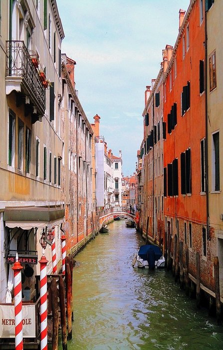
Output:
<instances>
[{"instance_id":1,"label":"stone balcony with black wrought-iron railing on left building","mask_svg":"<svg viewBox=\"0 0 223 350\"><path fill-rule=\"evenodd\" d=\"M6 94L17 91L16 105L25 103L25 115L32 123L45 113L45 88L24 41L6 41Z\"/></svg>"}]
</instances>

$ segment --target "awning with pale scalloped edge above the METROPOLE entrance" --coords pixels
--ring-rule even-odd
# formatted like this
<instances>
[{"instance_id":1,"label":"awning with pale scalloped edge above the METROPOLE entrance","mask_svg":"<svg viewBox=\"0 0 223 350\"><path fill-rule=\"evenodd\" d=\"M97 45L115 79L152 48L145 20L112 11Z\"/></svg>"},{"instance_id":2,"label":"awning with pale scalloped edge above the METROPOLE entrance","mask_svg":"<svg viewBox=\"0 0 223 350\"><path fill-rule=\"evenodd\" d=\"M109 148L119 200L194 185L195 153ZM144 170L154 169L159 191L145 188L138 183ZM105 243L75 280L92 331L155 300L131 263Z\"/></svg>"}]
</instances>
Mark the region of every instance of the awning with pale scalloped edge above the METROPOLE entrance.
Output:
<instances>
[{"instance_id":1,"label":"awning with pale scalloped edge above the METROPOLE entrance","mask_svg":"<svg viewBox=\"0 0 223 350\"><path fill-rule=\"evenodd\" d=\"M64 209L56 207L10 207L5 208L3 213L3 220L5 221L5 226L10 228L43 228L49 223L51 226L60 224L61 222L63 222L64 214Z\"/></svg>"}]
</instances>

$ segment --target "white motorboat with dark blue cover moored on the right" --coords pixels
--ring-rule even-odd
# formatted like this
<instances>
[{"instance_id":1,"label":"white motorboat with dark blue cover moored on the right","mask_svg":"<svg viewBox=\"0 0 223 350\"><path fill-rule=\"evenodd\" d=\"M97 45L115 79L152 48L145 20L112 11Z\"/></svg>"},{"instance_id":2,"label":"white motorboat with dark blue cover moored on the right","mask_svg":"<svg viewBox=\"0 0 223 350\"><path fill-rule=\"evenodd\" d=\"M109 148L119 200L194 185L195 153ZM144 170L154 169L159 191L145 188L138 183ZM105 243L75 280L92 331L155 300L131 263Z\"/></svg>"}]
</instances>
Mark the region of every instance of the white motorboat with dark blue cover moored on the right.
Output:
<instances>
[{"instance_id":1,"label":"white motorboat with dark blue cover moored on the right","mask_svg":"<svg viewBox=\"0 0 223 350\"><path fill-rule=\"evenodd\" d=\"M139 248L138 253L134 255L132 266L134 267L135 265L141 268L146 267L150 269L153 269L155 267L165 267L165 257L163 256L159 245L142 245Z\"/></svg>"}]
</instances>

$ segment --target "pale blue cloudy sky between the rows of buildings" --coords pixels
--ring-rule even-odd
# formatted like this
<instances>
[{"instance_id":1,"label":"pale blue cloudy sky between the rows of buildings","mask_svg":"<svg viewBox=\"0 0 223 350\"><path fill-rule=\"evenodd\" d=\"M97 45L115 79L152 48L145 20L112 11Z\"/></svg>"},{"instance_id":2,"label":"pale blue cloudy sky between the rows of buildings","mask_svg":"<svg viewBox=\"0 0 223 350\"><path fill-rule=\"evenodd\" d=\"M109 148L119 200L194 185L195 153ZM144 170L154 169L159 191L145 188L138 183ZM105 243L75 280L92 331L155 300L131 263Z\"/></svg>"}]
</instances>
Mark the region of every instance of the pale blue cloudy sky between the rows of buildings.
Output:
<instances>
[{"instance_id":1,"label":"pale blue cloudy sky between the rows of buildings","mask_svg":"<svg viewBox=\"0 0 223 350\"><path fill-rule=\"evenodd\" d=\"M119 156L123 174L136 171L143 139L146 85L156 78L162 49L176 42L179 10L190 0L57 0L65 38L76 61L75 89L89 122Z\"/></svg>"}]
</instances>

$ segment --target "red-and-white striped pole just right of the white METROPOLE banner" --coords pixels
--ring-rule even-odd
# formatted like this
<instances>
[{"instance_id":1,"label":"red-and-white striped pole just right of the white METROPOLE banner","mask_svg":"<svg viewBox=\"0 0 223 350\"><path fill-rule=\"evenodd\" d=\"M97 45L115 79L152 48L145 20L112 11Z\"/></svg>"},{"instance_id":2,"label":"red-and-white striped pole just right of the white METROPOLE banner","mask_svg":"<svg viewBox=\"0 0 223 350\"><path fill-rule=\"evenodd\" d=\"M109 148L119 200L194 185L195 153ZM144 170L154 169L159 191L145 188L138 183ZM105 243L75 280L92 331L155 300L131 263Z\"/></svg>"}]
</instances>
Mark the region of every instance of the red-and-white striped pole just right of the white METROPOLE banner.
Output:
<instances>
[{"instance_id":1,"label":"red-and-white striped pole just right of the white METROPOLE banner","mask_svg":"<svg viewBox=\"0 0 223 350\"><path fill-rule=\"evenodd\" d=\"M40 263L40 349L47 350L47 265L44 252Z\"/></svg>"}]
</instances>

